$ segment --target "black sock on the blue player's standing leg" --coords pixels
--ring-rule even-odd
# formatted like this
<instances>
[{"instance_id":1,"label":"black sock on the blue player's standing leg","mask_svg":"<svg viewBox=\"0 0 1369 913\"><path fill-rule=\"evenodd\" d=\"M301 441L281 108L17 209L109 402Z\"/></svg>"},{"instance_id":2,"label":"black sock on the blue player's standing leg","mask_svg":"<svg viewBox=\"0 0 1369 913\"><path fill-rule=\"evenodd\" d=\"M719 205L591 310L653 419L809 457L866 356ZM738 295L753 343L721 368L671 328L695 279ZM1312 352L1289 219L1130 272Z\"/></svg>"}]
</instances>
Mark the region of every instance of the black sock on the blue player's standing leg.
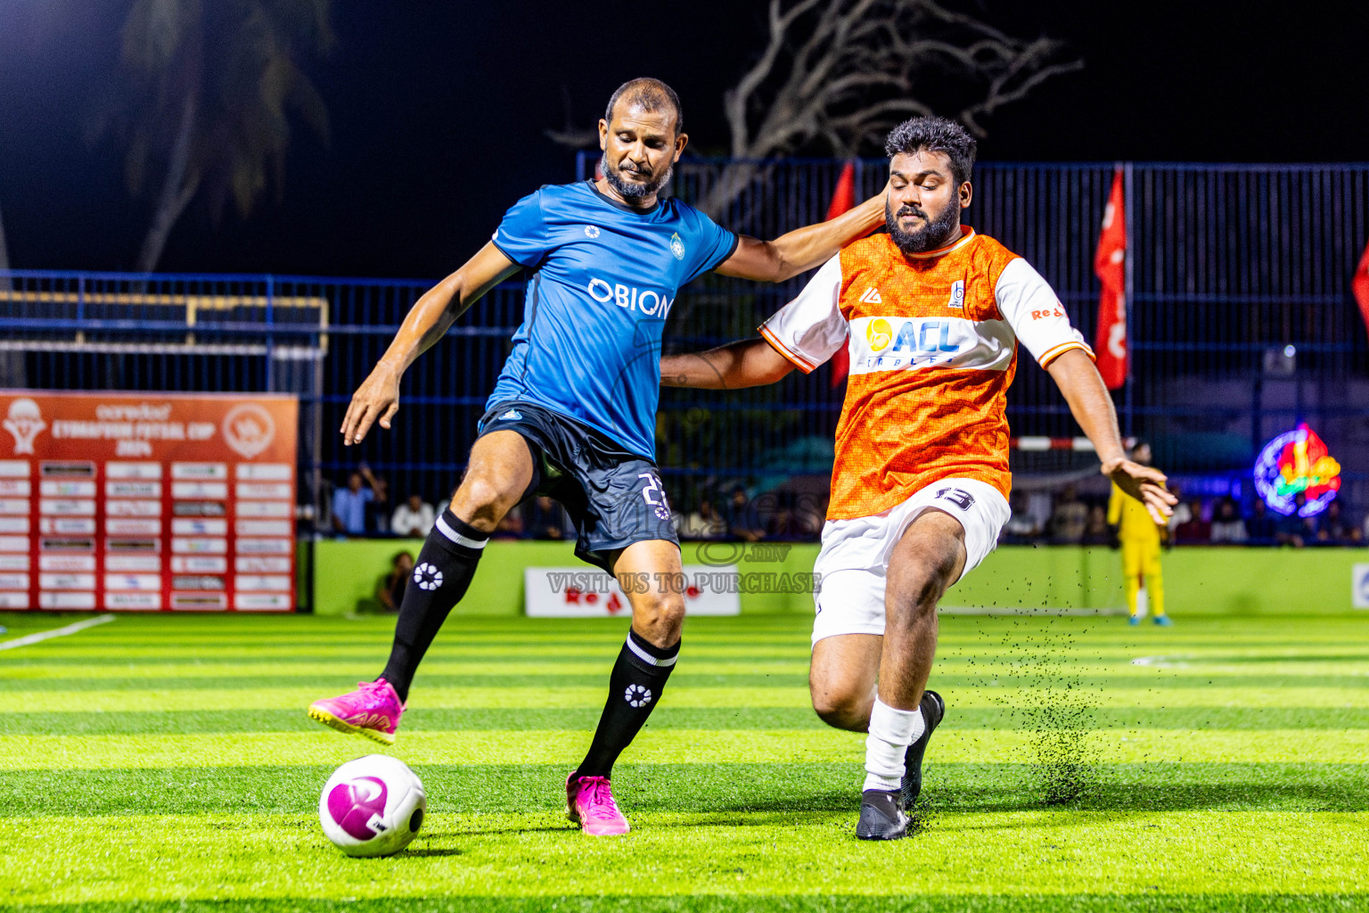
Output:
<instances>
[{"instance_id":1,"label":"black sock on the blue player's standing leg","mask_svg":"<svg viewBox=\"0 0 1369 913\"><path fill-rule=\"evenodd\" d=\"M589 754L580 761L579 776L609 776L613 761L623 753L646 717L660 704L665 679L671 678L680 645L661 649L637 631L627 632L627 642L617 654L608 679L608 702L600 717Z\"/></svg>"}]
</instances>

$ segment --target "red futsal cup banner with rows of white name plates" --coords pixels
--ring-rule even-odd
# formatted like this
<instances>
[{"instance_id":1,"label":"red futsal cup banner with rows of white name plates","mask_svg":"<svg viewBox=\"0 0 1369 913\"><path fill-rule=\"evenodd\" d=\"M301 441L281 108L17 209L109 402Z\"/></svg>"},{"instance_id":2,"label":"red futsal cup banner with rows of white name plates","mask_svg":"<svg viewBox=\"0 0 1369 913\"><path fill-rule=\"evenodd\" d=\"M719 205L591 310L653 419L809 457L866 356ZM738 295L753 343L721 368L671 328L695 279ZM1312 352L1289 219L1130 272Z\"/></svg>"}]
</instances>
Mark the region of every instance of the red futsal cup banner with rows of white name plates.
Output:
<instances>
[{"instance_id":1,"label":"red futsal cup banner with rows of white name plates","mask_svg":"<svg viewBox=\"0 0 1369 913\"><path fill-rule=\"evenodd\" d=\"M0 609L294 610L298 411L0 390Z\"/></svg>"}]
</instances>

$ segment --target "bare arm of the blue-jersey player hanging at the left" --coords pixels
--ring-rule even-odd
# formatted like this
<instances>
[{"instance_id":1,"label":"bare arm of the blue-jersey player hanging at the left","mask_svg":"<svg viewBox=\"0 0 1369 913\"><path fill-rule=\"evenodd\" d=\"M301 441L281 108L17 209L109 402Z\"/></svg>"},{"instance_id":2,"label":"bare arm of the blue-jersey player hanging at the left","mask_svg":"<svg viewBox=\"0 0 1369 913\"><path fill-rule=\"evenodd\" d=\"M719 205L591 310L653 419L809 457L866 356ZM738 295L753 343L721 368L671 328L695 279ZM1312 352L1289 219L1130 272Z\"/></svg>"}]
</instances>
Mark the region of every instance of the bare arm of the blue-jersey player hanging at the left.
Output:
<instances>
[{"instance_id":1,"label":"bare arm of the blue-jersey player hanging at the left","mask_svg":"<svg viewBox=\"0 0 1369 913\"><path fill-rule=\"evenodd\" d=\"M352 394L342 416L342 443L360 443L376 422L389 430L400 411L400 378L413 360L435 345L481 296L517 270L497 246L486 244L460 270L424 292L409 308L390 348Z\"/></svg>"}]
</instances>

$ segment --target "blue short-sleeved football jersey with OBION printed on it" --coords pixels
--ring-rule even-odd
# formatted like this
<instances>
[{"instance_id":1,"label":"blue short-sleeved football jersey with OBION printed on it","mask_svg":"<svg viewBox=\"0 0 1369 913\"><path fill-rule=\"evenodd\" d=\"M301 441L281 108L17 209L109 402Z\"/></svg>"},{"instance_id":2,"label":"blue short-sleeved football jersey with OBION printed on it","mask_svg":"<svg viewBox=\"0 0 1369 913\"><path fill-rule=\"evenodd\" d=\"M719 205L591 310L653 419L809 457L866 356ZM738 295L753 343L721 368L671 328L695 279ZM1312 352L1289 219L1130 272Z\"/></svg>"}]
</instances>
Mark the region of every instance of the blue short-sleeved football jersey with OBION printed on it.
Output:
<instances>
[{"instance_id":1,"label":"blue short-sleeved football jersey with OBION printed on it","mask_svg":"<svg viewBox=\"0 0 1369 913\"><path fill-rule=\"evenodd\" d=\"M654 459L665 318L737 235L679 200L638 212L585 181L519 200L494 245L534 272L489 407L528 400Z\"/></svg>"}]
</instances>

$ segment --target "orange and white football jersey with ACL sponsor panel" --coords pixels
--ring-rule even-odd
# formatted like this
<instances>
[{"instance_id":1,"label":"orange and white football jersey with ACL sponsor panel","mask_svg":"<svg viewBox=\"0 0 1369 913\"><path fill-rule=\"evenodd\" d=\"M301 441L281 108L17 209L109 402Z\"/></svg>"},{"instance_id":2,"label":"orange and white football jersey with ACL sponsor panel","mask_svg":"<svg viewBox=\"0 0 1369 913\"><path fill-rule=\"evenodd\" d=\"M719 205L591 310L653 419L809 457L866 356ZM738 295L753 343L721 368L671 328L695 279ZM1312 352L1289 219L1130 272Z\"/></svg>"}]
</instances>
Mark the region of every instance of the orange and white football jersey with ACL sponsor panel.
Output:
<instances>
[{"instance_id":1,"label":"orange and white football jersey with ACL sponsor panel","mask_svg":"<svg viewBox=\"0 0 1369 913\"><path fill-rule=\"evenodd\" d=\"M850 346L830 520L882 513L949 478L1006 498L1017 341L1042 367L1094 355L1040 274L968 226L925 253L904 255L887 234L856 241L760 330L805 374Z\"/></svg>"}]
</instances>

